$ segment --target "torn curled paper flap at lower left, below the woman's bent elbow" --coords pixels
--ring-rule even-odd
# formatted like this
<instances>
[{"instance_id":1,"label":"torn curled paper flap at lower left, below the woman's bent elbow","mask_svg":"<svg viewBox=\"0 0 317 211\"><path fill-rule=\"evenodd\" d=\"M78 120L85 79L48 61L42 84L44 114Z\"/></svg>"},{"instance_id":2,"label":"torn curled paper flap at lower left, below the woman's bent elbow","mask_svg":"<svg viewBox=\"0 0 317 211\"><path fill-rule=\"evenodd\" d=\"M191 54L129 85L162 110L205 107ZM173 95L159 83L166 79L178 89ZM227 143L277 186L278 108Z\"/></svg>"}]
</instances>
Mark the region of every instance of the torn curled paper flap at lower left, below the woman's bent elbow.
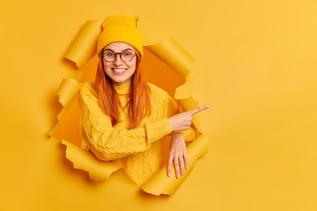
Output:
<instances>
[{"instance_id":1,"label":"torn curled paper flap at lower left, below the woman's bent elbow","mask_svg":"<svg viewBox=\"0 0 317 211\"><path fill-rule=\"evenodd\" d=\"M91 152L68 141L62 140L62 144L67 146L66 158L73 163L74 168L89 172L89 177L96 182L108 181L110 175L121 168L111 161L96 158Z\"/></svg>"}]
</instances>

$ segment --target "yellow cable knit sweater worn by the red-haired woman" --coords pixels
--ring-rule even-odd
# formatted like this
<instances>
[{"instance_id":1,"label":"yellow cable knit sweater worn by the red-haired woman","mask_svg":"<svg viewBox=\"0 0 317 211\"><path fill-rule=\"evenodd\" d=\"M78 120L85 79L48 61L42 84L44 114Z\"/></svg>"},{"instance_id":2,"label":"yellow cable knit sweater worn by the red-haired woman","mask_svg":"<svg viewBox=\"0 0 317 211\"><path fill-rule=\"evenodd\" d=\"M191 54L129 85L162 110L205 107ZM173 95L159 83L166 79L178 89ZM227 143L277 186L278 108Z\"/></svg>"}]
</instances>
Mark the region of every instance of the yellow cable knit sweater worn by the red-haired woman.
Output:
<instances>
[{"instance_id":1,"label":"yellow cable knit sweater worn by the red-haired woman","mask_svg":"<svg viewBox=\"0 0 317 211\"><path fill-rule=\"evenodd\" d=\"M160 170L163 140L172 132L168 117L181 112L177 102L166 91L151 83L147 85L150 88L151 115L131 130L127 129L130 121L128 109L125 108L131 83L114 87L122 112L122 122L114 126L98 104L93 82L84 83L78 93L82 148L92 151L99 159L111 160L123 167L139 186ZM188 130L179 133L184 135L188 145L195 139L197 130L192 124Z\"/></svg>"}]
</instances>

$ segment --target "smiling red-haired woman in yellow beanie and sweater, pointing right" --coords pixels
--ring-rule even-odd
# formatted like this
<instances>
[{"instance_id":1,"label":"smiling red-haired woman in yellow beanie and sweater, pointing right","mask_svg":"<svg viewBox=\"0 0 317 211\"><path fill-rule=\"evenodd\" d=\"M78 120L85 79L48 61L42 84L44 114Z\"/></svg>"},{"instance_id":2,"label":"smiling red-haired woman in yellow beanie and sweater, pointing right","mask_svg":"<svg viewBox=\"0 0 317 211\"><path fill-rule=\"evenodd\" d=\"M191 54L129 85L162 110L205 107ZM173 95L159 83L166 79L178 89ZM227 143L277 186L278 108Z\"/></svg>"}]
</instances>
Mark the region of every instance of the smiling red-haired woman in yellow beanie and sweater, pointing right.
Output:
<instances>
[{"instance_id":1,"label":"smiling red-haired woman in yellow beanie and sweater, pointing right","mask_svg":"<svg viewBox=\"0 0 317 211\"><path fill-rule=\"evenodd\" d=\"M164 137L172 134L167 175L174 161L179 178L188 167L186 144L197 132L193 114L208 106L181 113L167 92L142 80L134 19L109 16L102 28L95 82L84 83L78 94L82 148L123 167L141 186L159 171Z\"/></svg>"}]
</instances>

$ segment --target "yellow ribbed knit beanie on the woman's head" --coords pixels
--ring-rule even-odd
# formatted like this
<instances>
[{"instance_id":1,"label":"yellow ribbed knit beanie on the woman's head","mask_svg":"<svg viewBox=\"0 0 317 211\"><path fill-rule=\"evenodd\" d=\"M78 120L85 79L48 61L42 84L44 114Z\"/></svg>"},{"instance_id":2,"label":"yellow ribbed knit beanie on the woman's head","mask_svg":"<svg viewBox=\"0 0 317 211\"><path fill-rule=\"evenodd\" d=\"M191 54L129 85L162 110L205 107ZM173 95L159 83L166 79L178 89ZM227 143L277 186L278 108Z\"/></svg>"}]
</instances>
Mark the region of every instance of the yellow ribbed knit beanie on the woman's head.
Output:
<instances>
[{"instance_id":1,"label":"yellow ribbed knit beanie on the woman's head","mask_svg":"<svg viewBox=\"0 0 317 211\"><path fill-rule=\"evenodd\" d=\"M126 43L133 46L143 57L142 39L136 29L136 21L133 18L114 15L108 16L102 23L103 31L99 35L97 55L110 43Z\"/></svg>"}]
</instances>

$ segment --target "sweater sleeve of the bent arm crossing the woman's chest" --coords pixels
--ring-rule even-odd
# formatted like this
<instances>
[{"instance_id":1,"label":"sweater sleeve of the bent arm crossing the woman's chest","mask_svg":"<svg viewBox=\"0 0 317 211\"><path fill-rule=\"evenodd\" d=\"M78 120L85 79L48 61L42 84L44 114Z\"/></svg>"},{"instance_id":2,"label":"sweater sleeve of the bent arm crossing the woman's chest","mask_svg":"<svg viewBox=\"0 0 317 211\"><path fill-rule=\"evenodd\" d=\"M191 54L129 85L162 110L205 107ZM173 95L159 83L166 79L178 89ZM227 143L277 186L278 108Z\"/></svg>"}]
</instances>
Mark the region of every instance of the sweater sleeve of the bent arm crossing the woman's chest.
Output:
<instances>
[{"instance_id":1,"label":"sweater sleeve of the bent arm crossing the woman's chest","mask_svg":"<svg viewBox=\"0 0 317 211\"><path fill-rule=\"evenodd\" d=\"M102 160L122 158L150 147L151 142L171 133L168 118L145 123L128 130L112 126L111 119L99 106L98 99L90 87L84 86L78 93L81 110L82 133L89 149Z\"/></svg>"}]
</instances>

